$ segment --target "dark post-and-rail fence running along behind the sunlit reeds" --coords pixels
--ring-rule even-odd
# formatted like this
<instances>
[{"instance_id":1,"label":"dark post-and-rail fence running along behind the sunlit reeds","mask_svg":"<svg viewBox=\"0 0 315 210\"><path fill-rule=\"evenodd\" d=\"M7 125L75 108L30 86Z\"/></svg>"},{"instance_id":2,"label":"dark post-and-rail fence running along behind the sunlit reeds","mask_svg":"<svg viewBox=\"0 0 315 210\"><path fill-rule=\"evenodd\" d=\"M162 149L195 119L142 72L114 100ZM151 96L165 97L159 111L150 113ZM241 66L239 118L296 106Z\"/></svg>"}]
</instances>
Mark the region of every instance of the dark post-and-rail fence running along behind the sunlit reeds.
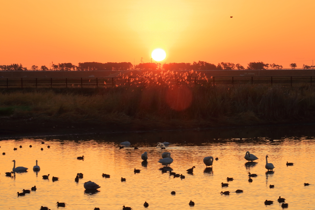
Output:
<instances>
[{"instance_id":1,"label":"dark post-and-rail fence running along behind the sunlit reeds","mask_svg":"<svg viewBox=\"0 0 315 210\"><path fill-rule=\"evenodd\" d=\"M0 78L0 88L105 88L117 87L121 85L132 85L136 77L77 77L77 78ZM191 84L212 85L220 84L290 84L292 87L296 83L312 85L312 76L238 76L238 77L189 77L185 81ZM183 77L173 77L172 82L183 82Z\"/></svg>"}]
</instances>

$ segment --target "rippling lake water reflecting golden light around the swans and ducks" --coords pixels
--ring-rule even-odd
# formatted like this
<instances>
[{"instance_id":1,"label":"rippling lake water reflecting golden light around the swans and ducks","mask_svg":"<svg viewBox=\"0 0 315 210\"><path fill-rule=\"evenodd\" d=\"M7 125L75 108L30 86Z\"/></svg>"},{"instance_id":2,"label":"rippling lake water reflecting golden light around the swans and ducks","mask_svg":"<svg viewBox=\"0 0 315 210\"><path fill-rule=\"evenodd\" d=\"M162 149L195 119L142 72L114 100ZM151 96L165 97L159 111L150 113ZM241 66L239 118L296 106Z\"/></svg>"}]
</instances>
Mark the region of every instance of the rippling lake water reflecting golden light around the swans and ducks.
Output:
<instances>
[{"instance_id":1,"label":"rippling lake water reflecting golden light around the swans and ducks","mask_svg":"<svg viewBox=\"0 0 315 210\"><path fill-rule=\"evenodd\" d=\"M19 138L0 141L1 209L57 209L56 202L66 202L65 209L93 210L94 207L133 210L144 209L282 209L279 196L286 199L289 209L315 209L314 127L233 128L225 130L168 131L152 133L113 133L45 138ZM41 142L45 143L42 144ZM130 147L119 149L120 142ZM156 148L158 142L170 142L165 150ZM22 148L19 146L22 145ZM29 145L32 145L30 148ZM47 148L47 146L50 148ZM139 149L135 150L134 147ZM13 150L13 148L17 150ZM43 148L43 151L41 150ZM147 164L141 154L148 153ZM257 156L256 163L246 164L246 151ZM2 153L5 152L5 155ZM163 152L170 152L173 172L185 179L162 173L157 161ZM77 160L83 156L84 160ZM266 173L266 158L275 166ZM206 169L203 158L218 157L212 170ZM25 173L6 177L4 172L16 167L29 168ZM38 160L39 172L32 170ZM286 162L294 162L286 166ZM193 174L186 170L195 166ZM134 173L134 168L140 173ZM248 172L258 174L249 182ZM77 173L83 179L75 182ZM103 178L102 173L110 174ZM50 174L49 179L42 178ZM59 177L52 181L52 177ZM122 182L121 177L126 178ZM227 182L226 178L233 181ZM101 186L96 192L85 191L83 184L93 181ZM221 187L221 183L228 187ZM304 183L310 183L304 186ZM269 188L274 184L274 188ZM22 189L37 190L17 196ZM235 193L235 190L243 193ZM171 195L175 191L176 195ZM221 195L221 191L231 191ZM194 207L188 205L195 202ZM272 200L270 206L265 200ZM59 207L60 209L62 207Z\"/></svg>"}]
</instances>

